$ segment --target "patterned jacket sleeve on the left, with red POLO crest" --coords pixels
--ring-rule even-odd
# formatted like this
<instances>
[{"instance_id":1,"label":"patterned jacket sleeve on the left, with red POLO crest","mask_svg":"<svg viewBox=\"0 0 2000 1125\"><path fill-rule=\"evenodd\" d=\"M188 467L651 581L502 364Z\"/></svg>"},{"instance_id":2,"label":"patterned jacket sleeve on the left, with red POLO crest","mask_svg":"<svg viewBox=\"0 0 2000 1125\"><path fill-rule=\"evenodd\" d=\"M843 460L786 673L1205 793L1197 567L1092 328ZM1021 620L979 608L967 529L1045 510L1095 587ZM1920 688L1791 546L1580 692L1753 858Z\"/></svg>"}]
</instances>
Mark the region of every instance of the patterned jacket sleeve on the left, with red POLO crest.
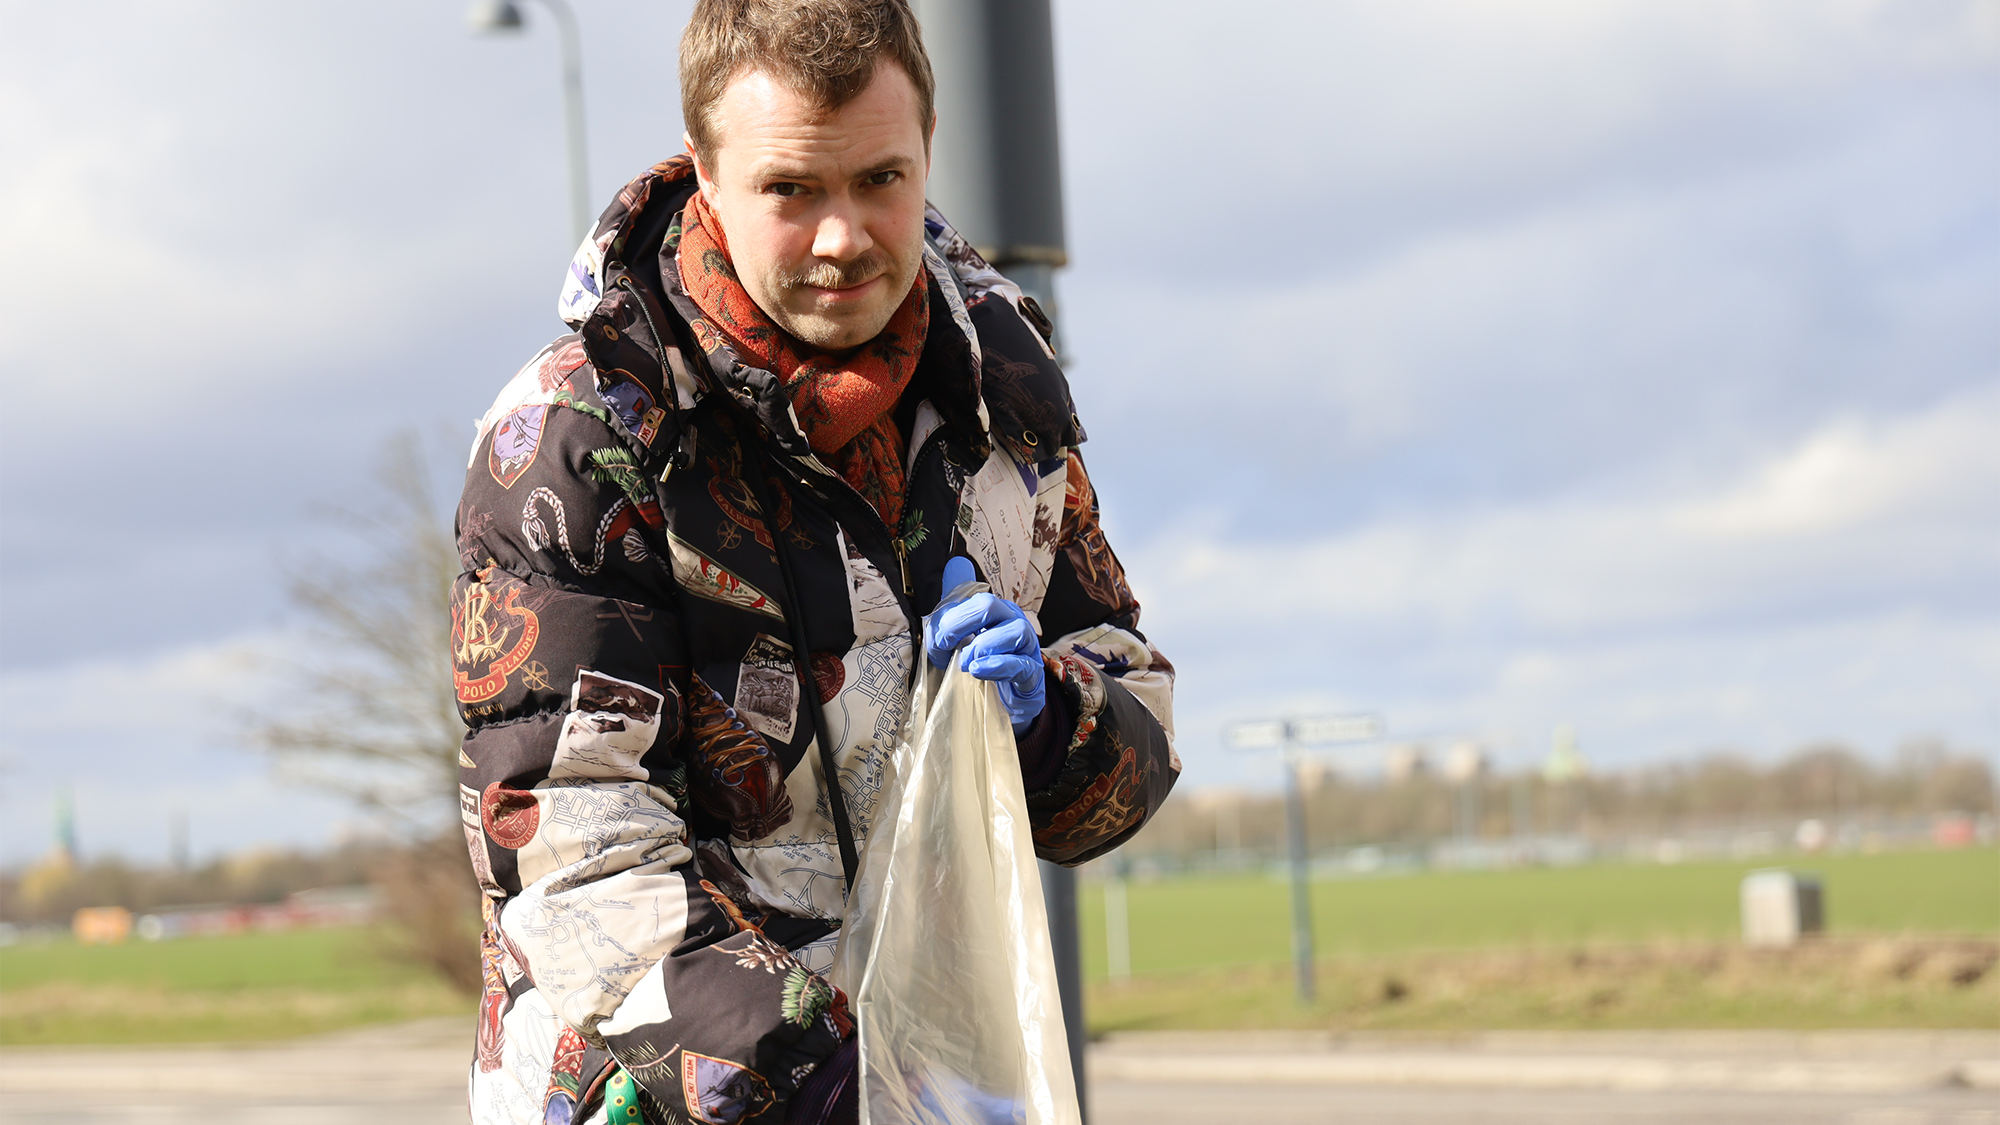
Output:
<instances>
[{"instance_id":1,"label":"patterned jacket sleeve on the left, with red POLO crest","mask_svg":"<svg viewBox=\"0 0 2000 1125\"><path fill-rule=\"evenodd\" d=\"M690 839L690 745L762 739L686 667L652 478L570 386L588 380L490 416L458 510L460 803L490 919L476 1065L502 1065L532 987L668 1119L780 1121L846 1001Z\"/></svg>"}]
</instances>

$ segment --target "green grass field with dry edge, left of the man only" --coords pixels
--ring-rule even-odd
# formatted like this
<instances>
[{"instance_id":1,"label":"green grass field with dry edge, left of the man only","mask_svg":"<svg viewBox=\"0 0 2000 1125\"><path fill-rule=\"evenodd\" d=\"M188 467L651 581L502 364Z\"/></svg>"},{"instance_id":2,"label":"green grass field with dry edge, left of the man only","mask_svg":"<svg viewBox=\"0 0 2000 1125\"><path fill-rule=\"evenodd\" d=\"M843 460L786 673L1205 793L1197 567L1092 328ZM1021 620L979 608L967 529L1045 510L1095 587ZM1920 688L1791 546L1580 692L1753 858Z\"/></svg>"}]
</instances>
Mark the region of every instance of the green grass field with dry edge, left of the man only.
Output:
<instances>
[{"instance_id":1,"label":"green grass field with dry edge, left of the man only","mask_svg":"<svg viewBox=\"0 0 2000 1125\"><path fill-rule=\"evenodd\" d=\"M0 949L0 1043L212 1043L472 1013L368 929Z\"/></svg>"}]
</instances>

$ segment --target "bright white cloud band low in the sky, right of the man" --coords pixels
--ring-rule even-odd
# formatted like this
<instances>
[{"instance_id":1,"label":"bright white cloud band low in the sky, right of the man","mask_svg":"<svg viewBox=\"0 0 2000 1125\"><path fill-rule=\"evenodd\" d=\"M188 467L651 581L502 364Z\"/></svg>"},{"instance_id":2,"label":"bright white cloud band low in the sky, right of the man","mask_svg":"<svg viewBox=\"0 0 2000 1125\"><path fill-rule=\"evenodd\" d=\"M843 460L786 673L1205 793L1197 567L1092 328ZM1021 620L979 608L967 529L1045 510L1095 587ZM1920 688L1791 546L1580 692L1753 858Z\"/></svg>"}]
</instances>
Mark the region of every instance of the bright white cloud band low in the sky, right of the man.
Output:
<instances>
[{"instance_id":1,"label":"bright white cloud band low in the sky, right of the man","mask_svg":"<svg viewBox=\"0 0 2000 1125\"><path fill-rule=\"evenodd\" d=\"M1150 575L1160 601L1198 599L1216 621L1318 613L1428 631L1504 605L1534 631L1676 629L1748 615L1778 589L1880 603L1970 577L2000 554L1996 474L2000 386L1836 422L1714 492L1404 514L1304 542L1176 528L1146 554L1164 567ZM1266 597L1204 595L1240 575Z\"/></svg>"}]
</instances>

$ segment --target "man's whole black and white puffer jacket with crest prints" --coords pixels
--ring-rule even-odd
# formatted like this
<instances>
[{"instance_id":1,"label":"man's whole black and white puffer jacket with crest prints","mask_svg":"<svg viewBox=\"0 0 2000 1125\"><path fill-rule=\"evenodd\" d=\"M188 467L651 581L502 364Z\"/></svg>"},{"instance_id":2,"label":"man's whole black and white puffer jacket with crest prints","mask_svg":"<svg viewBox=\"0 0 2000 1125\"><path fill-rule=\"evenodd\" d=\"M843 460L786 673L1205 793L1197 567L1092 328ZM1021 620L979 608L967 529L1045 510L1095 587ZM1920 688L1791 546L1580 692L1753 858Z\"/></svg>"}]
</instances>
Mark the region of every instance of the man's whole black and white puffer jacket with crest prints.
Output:
<instances>
[{"instance_id":1,"label":"man's whole black and white puffer jacket with crest prints","mask_svg":"<svg viewBox=\"0 0 2000 1125\"><path fill-rule=\"evenodd\" d=\"M776 1123L850 1035L826 981L944 560L1036 623L1036 851L1102 855L1180 773L1166 659L1098 526L1048 320L930 212L890 528L680 286L686 158L630 182L574 328L480 418L452 591L484 889L478 1123ZM832 781L832 785L830 785Z\"/></svg>"}]
</instances>

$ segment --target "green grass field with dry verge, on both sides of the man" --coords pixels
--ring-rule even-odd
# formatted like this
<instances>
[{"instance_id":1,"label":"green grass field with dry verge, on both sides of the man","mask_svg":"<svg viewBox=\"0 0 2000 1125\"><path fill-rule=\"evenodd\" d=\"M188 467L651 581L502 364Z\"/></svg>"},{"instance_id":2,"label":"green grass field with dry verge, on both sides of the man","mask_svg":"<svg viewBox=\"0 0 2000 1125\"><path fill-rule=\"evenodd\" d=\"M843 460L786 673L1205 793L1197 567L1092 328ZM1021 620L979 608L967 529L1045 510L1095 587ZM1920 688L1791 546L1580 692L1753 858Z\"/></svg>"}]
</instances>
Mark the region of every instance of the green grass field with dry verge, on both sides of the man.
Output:
<instances>
[{"instance_id":1,"label":"green grass field with dry verge, on both sides of the man","mask_svg":"<svg viewBox=\"0 0 2000 1125\"><path fill-rule=\"evenodd\" d=\"M1312 885L1320 1003L1292 999L1290 899L1264 875L1128 887L1130 981L1082 897L1096 1031L1132 1027L1996 1027L2000 849L1798 863L1828 941L1744 951L1750 863L1414 873ZM1960 935L1962 941L1944 941ZM0 1043L262 1041L466 1015L368 929L0 949ZM470 1025L468 1025L470 1027Z\"/></svg>"}]
</instances>

